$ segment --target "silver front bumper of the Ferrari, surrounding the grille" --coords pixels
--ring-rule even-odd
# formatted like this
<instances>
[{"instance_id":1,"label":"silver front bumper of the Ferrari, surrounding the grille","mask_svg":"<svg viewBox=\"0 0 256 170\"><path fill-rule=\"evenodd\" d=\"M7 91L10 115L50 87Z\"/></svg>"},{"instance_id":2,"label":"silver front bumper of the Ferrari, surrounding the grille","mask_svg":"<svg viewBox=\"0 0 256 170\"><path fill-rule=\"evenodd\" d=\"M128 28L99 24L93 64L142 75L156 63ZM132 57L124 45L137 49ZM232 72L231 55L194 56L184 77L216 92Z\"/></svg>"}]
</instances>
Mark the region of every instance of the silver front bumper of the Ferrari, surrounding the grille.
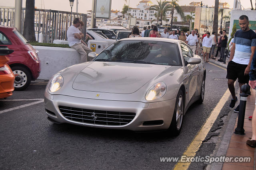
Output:
<instances>
[{"instance_id":1,"label":"silver front bumper of the Ferrari, surrounding the grille","mask_svg":"<svg viewBox=\"0 0 256 170\"><path fill-rule=\"evenodd\" d=\"M51 95L45 91L44 105L47 116L58 123L71 123L74 125L84 125L88 127L106 129L126 129L132 131L155 131L168 129L172 121L176 99L162 102L143 103L113 100L95 100L87 98L77 98L64 95ZM59 106L76 107L82 109L118 111L136 113L134 119L126 125L101 125L96 123L84 123L67 119L60 112ZM50 112L49 112L50 111ZM54 113L54 114L52 114ZM160 121L157 125L143 125L146 121Z\"/></svg>"}]
</instances>

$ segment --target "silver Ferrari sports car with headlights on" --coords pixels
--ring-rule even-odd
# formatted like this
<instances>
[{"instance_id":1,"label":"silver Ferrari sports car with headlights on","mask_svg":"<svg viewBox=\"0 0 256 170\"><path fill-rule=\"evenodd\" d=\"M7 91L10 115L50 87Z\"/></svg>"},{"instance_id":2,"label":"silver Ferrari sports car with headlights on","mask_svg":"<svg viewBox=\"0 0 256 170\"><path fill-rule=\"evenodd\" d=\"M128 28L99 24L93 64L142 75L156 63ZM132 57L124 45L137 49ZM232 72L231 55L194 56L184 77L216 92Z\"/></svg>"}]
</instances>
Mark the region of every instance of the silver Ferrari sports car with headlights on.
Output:
<instances>
[{"instance_id":1,"label":"silver Ferrari sports car with headlights on","mask_svg":"<svg viewBox=\"0 0 256 170\"><path fill-rule=\"evenodd\" d=\"M48 82L50 121L178 135L189 106L204 100L204 62L182 41L126 38L89 56Z\"/></svg>"}]
</instances>

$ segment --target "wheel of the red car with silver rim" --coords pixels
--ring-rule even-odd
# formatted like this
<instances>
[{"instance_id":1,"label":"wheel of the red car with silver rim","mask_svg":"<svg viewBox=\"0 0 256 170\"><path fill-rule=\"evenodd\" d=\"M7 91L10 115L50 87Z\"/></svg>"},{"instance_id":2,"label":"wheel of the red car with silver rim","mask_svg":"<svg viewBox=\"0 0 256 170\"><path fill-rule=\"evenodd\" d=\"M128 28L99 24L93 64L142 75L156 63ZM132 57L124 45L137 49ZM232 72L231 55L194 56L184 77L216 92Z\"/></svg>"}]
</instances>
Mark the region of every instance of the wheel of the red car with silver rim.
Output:
<instances>
[{"instance_id":1,"label":"wheel of the red car with silver rim","mask_svg":"<svg viewBox=\"0 0 256 170\"><path fill-rule=\"evenodd\" d=\"M23 66L13 66L12 72L15 76L14 90L21 91L27 88L31 81L29 70Z\"/></svg>"}]
</instances>

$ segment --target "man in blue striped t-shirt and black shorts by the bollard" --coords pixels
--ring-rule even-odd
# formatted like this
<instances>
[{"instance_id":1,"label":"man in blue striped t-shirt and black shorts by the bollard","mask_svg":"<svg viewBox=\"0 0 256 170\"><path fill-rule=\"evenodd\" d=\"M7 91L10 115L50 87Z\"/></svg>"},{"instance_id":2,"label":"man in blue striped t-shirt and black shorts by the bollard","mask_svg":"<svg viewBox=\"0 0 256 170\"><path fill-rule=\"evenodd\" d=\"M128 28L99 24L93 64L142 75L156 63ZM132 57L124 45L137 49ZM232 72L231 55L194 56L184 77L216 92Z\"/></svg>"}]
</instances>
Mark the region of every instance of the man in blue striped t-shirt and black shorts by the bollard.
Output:
<instances>
[{"instance_id":1,"label":"man in blue striped t-shirt and black shorts by the bollard","mask_svg":"<svg viewBox=\"0 0 256 170\"><path fill-rule=\"evenodd\" d=\"M242 93L241 86L249 82L250 66L256 49L256 33L249 28L248 17L240 16L239 25L241 29L234 35L234 43L227 66L226 78L228 78L228 89L232 95L230 108L233 108L237 101L234 88L236 79L238 78L240 93ZM239 112L239 105L234 111Z\"/></svg>"}]
</instances>

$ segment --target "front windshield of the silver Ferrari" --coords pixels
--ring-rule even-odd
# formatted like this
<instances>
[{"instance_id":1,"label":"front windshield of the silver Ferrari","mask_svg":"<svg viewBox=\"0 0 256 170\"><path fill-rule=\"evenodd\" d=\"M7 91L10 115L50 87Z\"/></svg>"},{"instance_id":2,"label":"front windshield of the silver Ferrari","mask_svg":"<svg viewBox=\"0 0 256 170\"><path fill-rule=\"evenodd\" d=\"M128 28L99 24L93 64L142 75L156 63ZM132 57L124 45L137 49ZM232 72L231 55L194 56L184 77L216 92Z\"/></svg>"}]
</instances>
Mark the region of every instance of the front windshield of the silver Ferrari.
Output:
<instances>
[{"instance_id":1,"label":"front windshield of the silver Ferrari","mask_svg":"<svg viewBox=\"0 0 256 170\"><path fill-rule=\"evenodd\" d=\"M93 61L182 66L178 45L162 41L117 41Z\"/></svg>"}]
</instances>

